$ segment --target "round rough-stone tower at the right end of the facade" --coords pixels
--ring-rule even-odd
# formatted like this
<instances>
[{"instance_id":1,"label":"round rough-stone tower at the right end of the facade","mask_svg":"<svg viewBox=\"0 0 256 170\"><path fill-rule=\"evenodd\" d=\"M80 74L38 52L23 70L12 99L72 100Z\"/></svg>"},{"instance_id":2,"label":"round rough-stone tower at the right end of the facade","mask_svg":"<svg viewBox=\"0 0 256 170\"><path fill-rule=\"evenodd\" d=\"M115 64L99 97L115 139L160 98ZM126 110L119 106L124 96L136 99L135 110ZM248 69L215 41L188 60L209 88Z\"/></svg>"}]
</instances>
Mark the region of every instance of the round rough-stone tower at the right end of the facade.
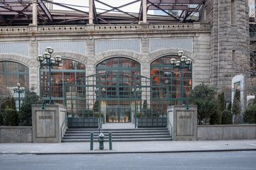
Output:
<instances>
[{"instance_id":1,"label":"round rough-stone tower at the right end of the facade","mask_svg":"<svg viewBox=\"0 0 256 170\"><path fill-rule=\"evenodd\" d=\"M232 8L233 7L233 8ZM232 16L233 13L233 16ZM211 24L210 84L230 89L232 77L249 64L249 28L246 0L206 1L201 22Z\"/></svg>"}]
</instances>

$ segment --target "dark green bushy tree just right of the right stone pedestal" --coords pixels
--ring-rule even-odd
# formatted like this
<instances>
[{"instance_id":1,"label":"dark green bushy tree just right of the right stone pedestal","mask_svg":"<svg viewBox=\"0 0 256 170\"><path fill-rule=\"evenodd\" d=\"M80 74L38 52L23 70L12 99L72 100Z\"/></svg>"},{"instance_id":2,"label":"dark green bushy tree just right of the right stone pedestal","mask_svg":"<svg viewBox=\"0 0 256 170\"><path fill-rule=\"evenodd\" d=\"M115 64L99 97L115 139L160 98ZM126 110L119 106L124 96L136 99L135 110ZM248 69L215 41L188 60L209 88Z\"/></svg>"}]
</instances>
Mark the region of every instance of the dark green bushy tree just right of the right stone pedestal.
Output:
<instances>
[{"instance_id":1,"label":"dark green bushy tree just right of the right stone pedestal","mask_svg":"<svg viewBox=\"0 0 256 170\"><path fill-rule=\"evenodd\" d=\"M210 116L215 113L217 101L215 99L216 91L213 87L206 84L199 84L191 91L188 96L188 103L198 106L199 125L207 123Z\"/></svg>"}]
</instances>

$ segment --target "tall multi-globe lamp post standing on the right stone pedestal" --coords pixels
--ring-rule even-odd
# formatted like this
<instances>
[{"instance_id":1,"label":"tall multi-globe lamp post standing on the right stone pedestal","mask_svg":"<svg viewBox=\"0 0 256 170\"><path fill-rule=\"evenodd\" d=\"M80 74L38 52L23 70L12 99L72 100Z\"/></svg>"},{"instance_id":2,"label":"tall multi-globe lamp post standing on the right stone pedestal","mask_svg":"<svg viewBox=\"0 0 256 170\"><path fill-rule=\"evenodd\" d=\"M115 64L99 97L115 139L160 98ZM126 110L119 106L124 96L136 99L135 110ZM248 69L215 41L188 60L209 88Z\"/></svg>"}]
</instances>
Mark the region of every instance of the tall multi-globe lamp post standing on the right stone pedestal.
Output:
<instances>
[{"instance_id":1,"label":"tall multi-globe lamp post standing on the right stone pedestal","mask_svg":"<svg viewBox=\"0 0 256 170\"><path fill-rule=\"evenodd\" d=\"M171 65L174 67L174 68L177 68L181 71L181 82L180 82L180 85L181 85L181 104L183 104L183 75L182 75L182 69L184 68L188 68L190 69L190 66L192 64L192 60L189 59L188 57L186 57L184 55L184 52L183 51L178 51L177 53L179 60L176 60L175 58L171 58Z\"/></svg>"}]
</instances>

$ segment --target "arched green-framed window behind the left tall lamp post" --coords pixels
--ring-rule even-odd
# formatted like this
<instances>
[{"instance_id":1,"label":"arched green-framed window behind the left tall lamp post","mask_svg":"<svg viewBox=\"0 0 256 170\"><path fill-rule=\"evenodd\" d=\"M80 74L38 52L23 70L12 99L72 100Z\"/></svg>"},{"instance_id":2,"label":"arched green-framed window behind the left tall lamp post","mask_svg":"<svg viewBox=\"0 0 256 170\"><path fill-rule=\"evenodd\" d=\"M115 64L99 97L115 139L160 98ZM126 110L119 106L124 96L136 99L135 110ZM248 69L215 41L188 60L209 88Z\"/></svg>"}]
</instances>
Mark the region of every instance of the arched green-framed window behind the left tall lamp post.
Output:
<instances>
[{"instance_id":1,"label":"arched green-framed window behind the left tall lamp post","mask_svg":"<svg viewBox=\"0 0 256 170\"><path fill-rule=\"evenodd\" d=\"M40 69L40 91L44 101L49 100L49 71L48 67ZM72 98L73 94L66 84L85 84L85 64L75 60L63 59L60 66L51 69L51 96L55 103L65 104L64 101ZM64 96L66 94L66 96Z\"/></svg>"}]
</instances>

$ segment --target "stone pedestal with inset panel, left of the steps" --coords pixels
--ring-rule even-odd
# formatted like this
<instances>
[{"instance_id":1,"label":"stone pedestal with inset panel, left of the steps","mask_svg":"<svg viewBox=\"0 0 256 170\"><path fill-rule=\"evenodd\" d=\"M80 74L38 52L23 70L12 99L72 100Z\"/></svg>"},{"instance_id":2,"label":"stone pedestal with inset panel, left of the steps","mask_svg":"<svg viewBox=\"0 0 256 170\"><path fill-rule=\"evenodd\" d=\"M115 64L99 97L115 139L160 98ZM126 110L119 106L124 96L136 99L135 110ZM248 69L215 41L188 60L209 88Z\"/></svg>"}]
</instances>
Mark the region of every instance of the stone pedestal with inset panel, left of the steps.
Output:
<instances>
[{"instance_id":1,"label":"stone pedestal with inset panel, left of the steps","mask_svg":"<svg viewBox=\"0 0 256 170\"><path fill-rule=\"evenodd\" d=\"M66 116L61 105L32 105L33 142L61 142L67 127Z\"/></svg>"}]
</instances>

